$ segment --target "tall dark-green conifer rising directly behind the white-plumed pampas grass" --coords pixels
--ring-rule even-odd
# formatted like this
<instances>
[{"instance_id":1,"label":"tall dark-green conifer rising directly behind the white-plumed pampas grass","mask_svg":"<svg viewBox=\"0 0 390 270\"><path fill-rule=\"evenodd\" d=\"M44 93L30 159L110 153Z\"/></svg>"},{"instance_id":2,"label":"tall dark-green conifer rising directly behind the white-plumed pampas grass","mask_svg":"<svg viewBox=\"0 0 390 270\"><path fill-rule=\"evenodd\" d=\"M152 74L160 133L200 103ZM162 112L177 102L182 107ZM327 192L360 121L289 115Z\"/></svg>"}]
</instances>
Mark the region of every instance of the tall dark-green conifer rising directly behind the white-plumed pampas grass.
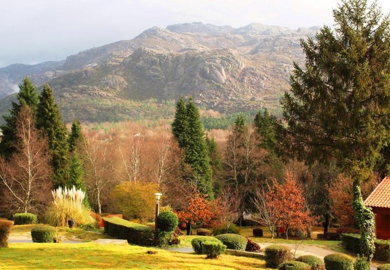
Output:
<instances>
[{"instance_id":1,"label":"tall dark-green conifer rising directly behind the white-plumed pampas grass","mask_svg":"<svg viewBox=\"0 0 390 270\"><path fill-rule=\"evenodd\" d=\"M64 187L69 165L68 133L65 123L61 121L60 110L54 102L53 91L48 84L44 84L39 96L37 127L43 130L48 138L55 187Z\"/></svg>"}]
</instances>

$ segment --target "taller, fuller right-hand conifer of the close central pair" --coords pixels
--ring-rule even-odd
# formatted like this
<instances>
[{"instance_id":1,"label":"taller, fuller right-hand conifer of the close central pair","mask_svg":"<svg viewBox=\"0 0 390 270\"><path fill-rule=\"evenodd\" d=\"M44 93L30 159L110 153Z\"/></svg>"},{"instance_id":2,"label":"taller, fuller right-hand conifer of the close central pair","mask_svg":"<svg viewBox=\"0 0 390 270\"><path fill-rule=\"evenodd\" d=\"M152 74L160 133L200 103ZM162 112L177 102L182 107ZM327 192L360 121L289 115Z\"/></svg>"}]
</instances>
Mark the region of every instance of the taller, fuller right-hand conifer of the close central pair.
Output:
<instances>
[{"instance_id":1,"label":"taller, fuller right-hand conifer of the close central pair","mask_svg":"<svg viewBox=\"0 0 390 270\"><path fill-rule=\"evenodd\" d=\"M204 129L200 119L199 109L192 98L186 104L188 129L186 134L186 163L188 163L195 177L199 178L198 187L203 194L208 194L213 198L213 171L210 166L210 158L206 141L204 139Z\"/></svg>"}]
</instances>

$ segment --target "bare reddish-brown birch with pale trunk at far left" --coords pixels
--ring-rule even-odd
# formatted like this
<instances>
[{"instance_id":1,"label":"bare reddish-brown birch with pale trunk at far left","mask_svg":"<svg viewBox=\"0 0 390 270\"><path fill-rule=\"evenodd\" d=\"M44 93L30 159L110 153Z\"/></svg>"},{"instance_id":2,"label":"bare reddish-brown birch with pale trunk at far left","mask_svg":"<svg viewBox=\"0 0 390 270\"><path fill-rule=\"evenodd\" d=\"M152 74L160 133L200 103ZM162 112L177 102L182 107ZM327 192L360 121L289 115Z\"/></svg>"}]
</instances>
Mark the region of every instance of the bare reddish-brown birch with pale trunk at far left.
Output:
<instances>
[{"instance_id":1,"label":"bare reddish-brown birch with pale trunk at far left","mask_svg":"<svg viewBox=\"0 0 390 270\"><path fill-rule=\"evenodd\" d=\"M46 140L35 128L30 107L21 108L16 122L16 152L0 158L0 180L4 185L3 206L10 212L37 211L50 197L51 167Z\"/></svg>"}]
</instances>

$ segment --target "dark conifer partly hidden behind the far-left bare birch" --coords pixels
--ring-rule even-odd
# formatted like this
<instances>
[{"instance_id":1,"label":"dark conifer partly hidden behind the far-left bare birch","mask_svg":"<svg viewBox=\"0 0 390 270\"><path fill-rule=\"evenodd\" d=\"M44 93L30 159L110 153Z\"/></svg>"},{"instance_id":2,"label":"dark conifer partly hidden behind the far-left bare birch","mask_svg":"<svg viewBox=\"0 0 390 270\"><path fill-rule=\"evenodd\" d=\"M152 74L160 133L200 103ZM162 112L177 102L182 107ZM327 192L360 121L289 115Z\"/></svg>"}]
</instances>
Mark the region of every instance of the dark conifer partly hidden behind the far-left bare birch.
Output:
<instances>
[{"instance_id":1,"label":"dark conifer partly hidden behind the far-left bare birch","mask_svg":"<svg viewBox=\"0 0 390 270\"><path fill-rule=\"evenodd\" d=\"M34 118L39 102L38 92L31 80L26 76L23 78L22 83L19 84L19 92L17 99L19 104L12 101L12 108L9 110L9 115L4 116L5 124L0 126L2 130L1 142L0 142L0 154L5 157L11 156L14 153L15 138L16 138L16 119L19 115L20 108L23 105L27 105L31 108Z\"/></svg>"}]
</instances>

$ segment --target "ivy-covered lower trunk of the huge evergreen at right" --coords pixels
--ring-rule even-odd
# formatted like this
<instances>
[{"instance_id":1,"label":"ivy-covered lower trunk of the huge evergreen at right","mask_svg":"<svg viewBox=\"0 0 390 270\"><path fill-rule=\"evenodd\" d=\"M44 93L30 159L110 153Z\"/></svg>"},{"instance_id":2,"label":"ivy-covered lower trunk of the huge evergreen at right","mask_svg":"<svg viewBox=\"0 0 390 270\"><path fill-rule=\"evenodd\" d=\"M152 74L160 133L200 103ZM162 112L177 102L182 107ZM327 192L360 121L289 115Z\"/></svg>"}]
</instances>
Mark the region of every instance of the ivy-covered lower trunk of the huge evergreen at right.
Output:
<instances>
[{"instance_id":1,"label":"ivy-covered lower trunk of the huge evergreen at right","mask_svg":"<svg viewBox=\"0 0 390 270\"><path fill-rule=\"evenodd\" d=\"M375 216L371 208L365 206L363 203L360 183L357 179L353 183L352 208L358 220L360 230L362 231L362 235L360 236L360 254L365 256L367 261L371 262L375 251Z\"/></svg>"}]
</instances>

